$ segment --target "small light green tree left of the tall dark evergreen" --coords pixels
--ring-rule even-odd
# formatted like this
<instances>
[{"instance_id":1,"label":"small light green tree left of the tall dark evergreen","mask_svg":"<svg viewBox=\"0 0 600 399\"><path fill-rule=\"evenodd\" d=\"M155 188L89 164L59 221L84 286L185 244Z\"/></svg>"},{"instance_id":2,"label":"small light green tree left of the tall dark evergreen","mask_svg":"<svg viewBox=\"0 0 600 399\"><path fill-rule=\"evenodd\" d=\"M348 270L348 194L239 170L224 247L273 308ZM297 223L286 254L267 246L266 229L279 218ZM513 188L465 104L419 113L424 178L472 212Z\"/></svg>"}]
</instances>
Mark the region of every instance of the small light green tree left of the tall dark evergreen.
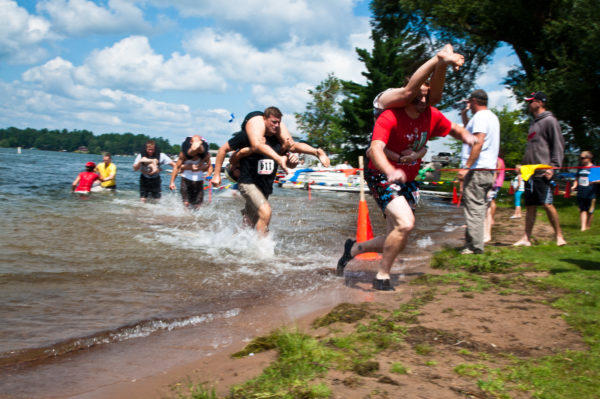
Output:
<instances>
[{"instance_id":1,"label":"small light green tree left of the tall dark evergreen","mask_svg":"<svg viewBox=\"0 0 600 399\"><path fill-rule=\"evenodd\" d=\"M329 73L324 81L314 90L308 90L308 93L312 96L312 101L306 105L306 111L294 114L298 129L316 147L329 153L339 153L344 138L339 105L342 82L333 73Z\"/></svg>"}]
</instances>

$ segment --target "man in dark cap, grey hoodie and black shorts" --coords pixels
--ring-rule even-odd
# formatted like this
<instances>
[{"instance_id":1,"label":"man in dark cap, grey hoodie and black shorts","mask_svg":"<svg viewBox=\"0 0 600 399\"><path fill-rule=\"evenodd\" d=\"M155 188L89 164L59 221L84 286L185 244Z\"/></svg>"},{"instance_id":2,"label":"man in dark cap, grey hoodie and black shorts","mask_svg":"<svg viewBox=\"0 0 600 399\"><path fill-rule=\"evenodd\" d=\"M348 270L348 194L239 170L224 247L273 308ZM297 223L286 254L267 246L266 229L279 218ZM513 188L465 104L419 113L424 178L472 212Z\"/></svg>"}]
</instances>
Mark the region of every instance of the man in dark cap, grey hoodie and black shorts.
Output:
<instances>
[{"instance_id":1,"label":"man in dark cap, grey hoodie and black shorts","mask_svg":"<svg viewBox=\"0 0 600 399\"><path fill-rule=\"evenodd\" d=\"M544 164L559 168L564 157L565 141L560 125L552 112L546 109L548 97L541 91L531 93L525 98L533 121L529 125L527 147L523 156L523 165ZM556 245L565 245L558 220L558 212L552 204L552 169L537 169L534 175L525 182L525 234L514 243L515 246L531 246L531 232L535 224L537 207L543 205L548 220L556 235Z\"/></svg>"}]
</instances>

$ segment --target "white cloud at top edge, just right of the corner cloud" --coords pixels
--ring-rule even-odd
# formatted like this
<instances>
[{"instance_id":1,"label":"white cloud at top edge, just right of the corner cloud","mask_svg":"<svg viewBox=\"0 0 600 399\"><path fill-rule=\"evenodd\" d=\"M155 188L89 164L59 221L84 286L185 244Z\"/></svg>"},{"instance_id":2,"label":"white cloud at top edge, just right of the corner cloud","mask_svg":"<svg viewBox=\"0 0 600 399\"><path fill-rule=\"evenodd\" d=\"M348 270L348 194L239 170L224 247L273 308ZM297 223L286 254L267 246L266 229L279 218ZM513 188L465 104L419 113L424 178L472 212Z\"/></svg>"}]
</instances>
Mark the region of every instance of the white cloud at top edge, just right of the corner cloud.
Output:
<instances>
[{"instance_id":1,"label":"white cloud at top edge, just right of the corner cloud","mask_svg":"<svg viewBox=\"0 0 600 399\"><path fill-rule=\"evenodd\" d=\"M38 12L49 15L54 29L69 35L147 32L142 10L126 0L109 0L103 7L88 0L46 0Z\"/></svg>"}]
</instances>

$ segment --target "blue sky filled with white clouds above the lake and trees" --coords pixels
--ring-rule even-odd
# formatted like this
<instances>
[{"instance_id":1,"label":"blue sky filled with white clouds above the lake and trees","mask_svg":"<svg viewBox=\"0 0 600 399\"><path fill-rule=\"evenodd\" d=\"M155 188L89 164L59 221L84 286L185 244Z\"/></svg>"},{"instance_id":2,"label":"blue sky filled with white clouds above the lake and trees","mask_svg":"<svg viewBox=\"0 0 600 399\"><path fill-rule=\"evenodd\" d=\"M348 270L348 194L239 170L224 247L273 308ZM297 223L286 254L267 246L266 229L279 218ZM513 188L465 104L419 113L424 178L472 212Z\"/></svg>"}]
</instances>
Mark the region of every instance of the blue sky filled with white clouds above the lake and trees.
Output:
<instances>
[{"instance_id":1,"label":"blue sky filled with white clouds above the lake and trees","mask_svg":"<svg viewBox=\"0 0 600 399\"><path fill-rule=\"evenodd\" d=\"M275 105L301 135L293 115L328 73L365 83L369 15L367 0L0 0L0 127L220 145ZM502 48L478 79L491 107L517 106L501 85L515 64Z\"/></svg>"}]
</instances>

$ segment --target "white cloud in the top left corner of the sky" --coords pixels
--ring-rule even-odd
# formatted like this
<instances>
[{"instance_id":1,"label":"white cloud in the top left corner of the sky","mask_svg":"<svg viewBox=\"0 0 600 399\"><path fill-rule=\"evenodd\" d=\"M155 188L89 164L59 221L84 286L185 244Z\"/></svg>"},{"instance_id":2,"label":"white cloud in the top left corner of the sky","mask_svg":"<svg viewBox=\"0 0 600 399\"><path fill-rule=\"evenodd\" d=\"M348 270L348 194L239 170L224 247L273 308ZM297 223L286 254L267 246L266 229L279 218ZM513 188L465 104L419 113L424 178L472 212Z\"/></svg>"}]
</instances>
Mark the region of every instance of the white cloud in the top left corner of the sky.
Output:
<instances>
[{"instance_id":1,"label":"white cloud in the top left corner of the sky","mask_svg":"<svg viewBox=\"0 0 600 399\"><path fill-rule=\"evenodd\" d=\"M46 56L41 45L51 38L47 20L30 15L15 1L0 0L0 61L37 62Z\"/></svg>"}]
</instances>

